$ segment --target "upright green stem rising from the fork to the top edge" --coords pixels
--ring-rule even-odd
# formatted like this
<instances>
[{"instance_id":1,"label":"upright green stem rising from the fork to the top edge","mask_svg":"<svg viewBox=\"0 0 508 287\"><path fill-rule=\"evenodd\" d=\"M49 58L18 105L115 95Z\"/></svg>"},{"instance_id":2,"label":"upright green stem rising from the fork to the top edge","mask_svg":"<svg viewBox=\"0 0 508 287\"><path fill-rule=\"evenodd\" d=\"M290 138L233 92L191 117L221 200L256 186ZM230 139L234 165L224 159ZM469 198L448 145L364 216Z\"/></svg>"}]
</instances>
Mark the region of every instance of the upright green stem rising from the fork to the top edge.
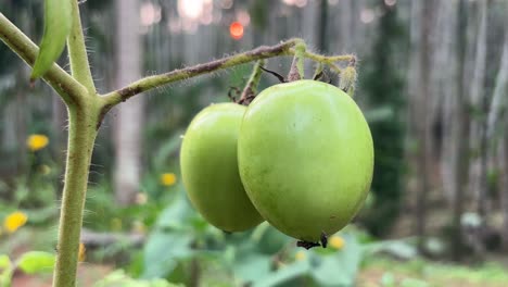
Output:
<instances>
[{"instance_id":1,"label":"upright green stem rising from the fork to the top edge","mask_svg":"<svg viewBox=\"0 0 508 287\"><path fill-rule=\"evenodd\" d=\"M73 25L71 27L71 35L67 39L68 58L71 61L71 71L74 78L81 83L87 90L94 95L96 86L90 72L88 63L87 48L85 46L85 37L82 35L81 18L79 16L79 5L77 0L72 1L72 17Z\"/></svg>"}]
</instances>

